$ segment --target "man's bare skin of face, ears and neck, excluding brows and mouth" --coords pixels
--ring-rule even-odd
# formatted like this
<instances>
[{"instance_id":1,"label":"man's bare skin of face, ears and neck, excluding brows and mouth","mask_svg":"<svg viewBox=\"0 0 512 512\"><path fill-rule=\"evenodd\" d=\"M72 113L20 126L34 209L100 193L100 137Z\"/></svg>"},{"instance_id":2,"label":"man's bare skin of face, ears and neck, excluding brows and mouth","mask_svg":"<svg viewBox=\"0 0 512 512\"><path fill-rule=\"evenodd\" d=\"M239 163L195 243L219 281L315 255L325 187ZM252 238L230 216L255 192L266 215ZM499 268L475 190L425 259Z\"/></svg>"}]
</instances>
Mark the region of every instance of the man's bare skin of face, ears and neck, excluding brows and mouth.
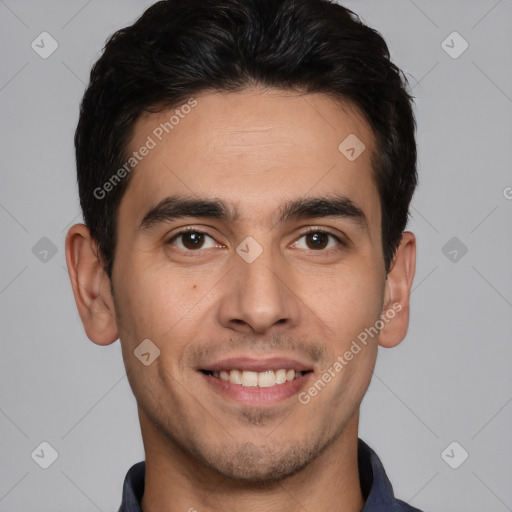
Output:
<instances>
[{"instance_id":1,"label":"man's bare skin of face, ears and neck, excluding brows and mouth","mask_svg":"<svg viewBox=\"0 0 512 512\"><path fill-rule=\"evenodd\" d=\"M121 342L146 453L143 508L360 511L359 407L378 345L393 347L407 332L414 235L403 234L386 274L375 141L354 107L260 88L194 97L197 106L132 171L119 210L114 296L88 229L77 224L66 239L87 336ZM168 118L142 115L130 148ZM366 146L352 162L338 150L351 133ZM277 223L285 201L333 193L364 212L367 229L340 217ZM137 229L171 194L221 199L239 216ZM168 242L187 226L207 233L204 248L186 237ZM309 227L345 244L327 237L318 248ZM252 263L236 252L248 236L263 250ZM397 303L400 312L306 405L297 395L242 405L198 371L225 357L277 354L311 364L313 383ZM160 355L145 366L133 351L148 338Z\"/></svg>"}]
</instances>

